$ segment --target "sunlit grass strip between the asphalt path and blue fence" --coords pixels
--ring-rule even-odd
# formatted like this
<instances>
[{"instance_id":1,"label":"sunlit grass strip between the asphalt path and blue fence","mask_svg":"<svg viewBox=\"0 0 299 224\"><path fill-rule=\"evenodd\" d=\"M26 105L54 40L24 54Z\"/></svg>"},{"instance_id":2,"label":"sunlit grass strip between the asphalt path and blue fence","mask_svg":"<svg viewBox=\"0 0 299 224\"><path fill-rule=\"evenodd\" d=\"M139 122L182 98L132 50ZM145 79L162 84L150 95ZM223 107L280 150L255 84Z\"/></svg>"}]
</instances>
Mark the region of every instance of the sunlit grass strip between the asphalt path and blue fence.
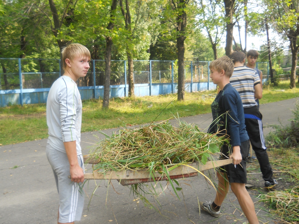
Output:
<instances>
[{"instance_id":1,"label":"sunlit grass strip between the asphalt path and blue fence","mask_svg":"<svg viewBox=\"0 0 299 224\"><path fill-rule=\"evenodd\" d=\"M115 98L109 109L102 110L102 100L83 101L82 132L117 128L126 124L138 125L166 120L172 113L180 117L210 113L213 99L202 99L203 94L216 91L185 93L178 102L176 94ZM266 86L261 104L299 97L299 88L289 89L289 81L277 87ZM9 145L48 137L46 105L13 105L0 108L0 144Z\"/></svg>"}]
</instances>

